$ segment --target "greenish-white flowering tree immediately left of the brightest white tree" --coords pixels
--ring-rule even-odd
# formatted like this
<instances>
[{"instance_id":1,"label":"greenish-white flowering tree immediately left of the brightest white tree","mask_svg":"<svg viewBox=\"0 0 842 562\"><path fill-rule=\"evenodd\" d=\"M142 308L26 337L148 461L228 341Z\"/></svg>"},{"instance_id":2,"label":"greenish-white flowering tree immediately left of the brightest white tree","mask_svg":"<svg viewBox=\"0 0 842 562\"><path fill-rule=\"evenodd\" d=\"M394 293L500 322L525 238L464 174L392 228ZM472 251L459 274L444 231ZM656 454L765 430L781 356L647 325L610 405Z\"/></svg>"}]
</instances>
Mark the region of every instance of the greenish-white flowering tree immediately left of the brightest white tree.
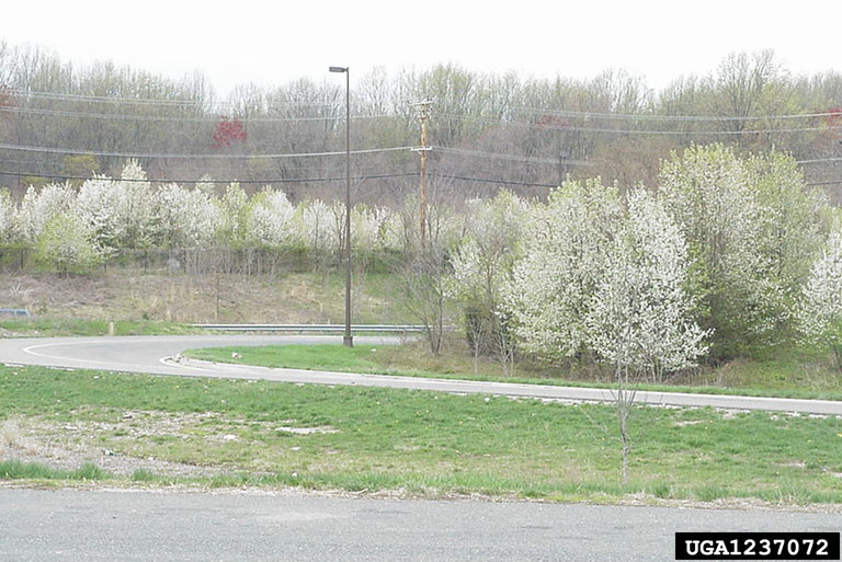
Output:
<instances>
[{"instance_id":1,"label":"greenish-white flowering tree immediately left of the brightest white tree","mask_svg":"<svg viewBox=\"0 0 842 562\"><path fill-rule=\"evenodd\" d=\"M599 180L565 182L534 206L505 306L520 345L549 360L588 351L588 306L606 267L623 208Z\"/></svg>"}]
</instances>

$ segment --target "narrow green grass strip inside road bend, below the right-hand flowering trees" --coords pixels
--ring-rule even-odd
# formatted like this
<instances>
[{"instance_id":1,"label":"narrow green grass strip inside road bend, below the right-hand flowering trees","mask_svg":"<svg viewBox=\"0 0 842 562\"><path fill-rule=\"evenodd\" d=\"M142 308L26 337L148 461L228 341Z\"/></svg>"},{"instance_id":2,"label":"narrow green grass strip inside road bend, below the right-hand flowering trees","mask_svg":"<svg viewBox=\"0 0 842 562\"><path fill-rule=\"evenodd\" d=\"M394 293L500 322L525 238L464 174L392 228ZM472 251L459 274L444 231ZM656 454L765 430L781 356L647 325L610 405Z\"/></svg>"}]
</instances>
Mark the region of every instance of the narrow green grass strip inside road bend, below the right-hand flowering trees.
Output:
<instances>
[{"instance_id":1,"label":"narrow green grass strip inside road bend, below the right-hand flowering trees","mask_svg":"<svg viewBox=\"0 0 842 562\"><path fill-rule=\"evenodd\" d=\"M208 347L190 349L184 355L203 360L263 367L612 387L604 380L583 378L581 374L574 377L572 371L530 363L519 366L516 377L502 377L499 367L489 360L481 362L480 368L475 371L466 354L445 352L439 357L432 357L422 343L382 346L357 344L353 348L327 344ZM639 388L663 392L842 400L842 377L827 367L822 363L824 359L813 351L778 349L771 355L740 359L719 369L685 378L682 385L640 385Z\"/></svg>"}]
</instances>

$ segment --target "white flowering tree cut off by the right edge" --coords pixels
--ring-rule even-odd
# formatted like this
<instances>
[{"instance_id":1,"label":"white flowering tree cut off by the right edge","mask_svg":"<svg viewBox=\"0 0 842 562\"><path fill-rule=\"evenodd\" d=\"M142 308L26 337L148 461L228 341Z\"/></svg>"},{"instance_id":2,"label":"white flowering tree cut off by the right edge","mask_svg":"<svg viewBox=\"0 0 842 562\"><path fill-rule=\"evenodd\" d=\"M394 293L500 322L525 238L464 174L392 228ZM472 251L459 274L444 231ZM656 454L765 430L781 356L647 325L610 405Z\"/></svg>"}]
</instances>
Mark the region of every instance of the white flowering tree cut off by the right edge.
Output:
<instances>
[{"instance_id":1,"label":"white flowering tree cut off by the right edge","mask_svg":"<svg viewBox=\"0 0 842 562\"><path fill-rule=\"evenodd\" d=\"M812 265L798 313L804 339L833 349L842 371L842 229L834 230Z\"/></svg>"}]
</instances>

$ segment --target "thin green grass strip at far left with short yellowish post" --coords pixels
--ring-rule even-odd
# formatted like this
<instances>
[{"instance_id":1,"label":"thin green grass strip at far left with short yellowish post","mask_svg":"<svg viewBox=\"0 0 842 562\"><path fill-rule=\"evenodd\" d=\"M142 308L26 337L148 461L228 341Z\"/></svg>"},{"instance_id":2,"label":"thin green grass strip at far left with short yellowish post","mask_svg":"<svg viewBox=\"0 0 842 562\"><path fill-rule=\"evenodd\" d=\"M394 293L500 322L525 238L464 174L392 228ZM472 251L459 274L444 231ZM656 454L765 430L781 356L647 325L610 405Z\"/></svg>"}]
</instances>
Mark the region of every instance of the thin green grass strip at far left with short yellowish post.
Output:
<instances>
[{"instance_id":1,"label":"thin green grass strip at far left with short yellowish post","mask_svg":"<svg viewBox=\"0 0 842 562\"><path fill-rule=\"evenodd\" d=\"M67 318L0 319L0 329L22 336L55 337L65 335L109 335L105 320ZM204 333L190 324L153 320L120 320L114 322L114 335L179 335Z\"/></svg>"}]
</instances>

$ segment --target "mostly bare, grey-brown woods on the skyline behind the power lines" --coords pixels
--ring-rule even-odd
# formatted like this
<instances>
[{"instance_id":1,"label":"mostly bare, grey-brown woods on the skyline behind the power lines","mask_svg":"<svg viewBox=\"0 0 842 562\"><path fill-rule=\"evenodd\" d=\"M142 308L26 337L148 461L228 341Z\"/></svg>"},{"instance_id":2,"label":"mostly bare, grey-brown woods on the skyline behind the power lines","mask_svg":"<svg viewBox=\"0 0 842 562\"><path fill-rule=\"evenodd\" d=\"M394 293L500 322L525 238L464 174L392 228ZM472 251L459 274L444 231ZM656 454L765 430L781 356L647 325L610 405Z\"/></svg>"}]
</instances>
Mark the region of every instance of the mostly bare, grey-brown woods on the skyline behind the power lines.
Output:
<instances>
[{"instance_id":1,"label":"mostly bare, grey-brown woods on the skyline behind the power lines","mask_svg":"<svg viewBox=\"0 0 842 562\"><path fill-rule=\"evenodd\" d=\"M680 77L658 92L623 70L539 80L446 65L397 76L375 70L354 81L354 148L417 146L413 104L432 102L431 183L448 197L501 185L546 196L568 175L623 188L653 184L673 150L712 142L819 160L804 163L807 181L834 197L840 185L832 159L841 156L842 74L793 76L772 51L730 55L709 76ZM137 154L152 180L208 173L249 191L284 184L295 200L331 200L344 173L341 154L263 156L341 152L342 90L303 79L218 99L198 73L170 80L105 62L78 68L37 48L0 45L0 180L20 197L50 175L76 183L91 172L116 175L125 156ZM365 179L364 203L397 205L417 182L400 179L418 171L410 150L355 154L353 167Z\"/></svg>"}]
</instances>

